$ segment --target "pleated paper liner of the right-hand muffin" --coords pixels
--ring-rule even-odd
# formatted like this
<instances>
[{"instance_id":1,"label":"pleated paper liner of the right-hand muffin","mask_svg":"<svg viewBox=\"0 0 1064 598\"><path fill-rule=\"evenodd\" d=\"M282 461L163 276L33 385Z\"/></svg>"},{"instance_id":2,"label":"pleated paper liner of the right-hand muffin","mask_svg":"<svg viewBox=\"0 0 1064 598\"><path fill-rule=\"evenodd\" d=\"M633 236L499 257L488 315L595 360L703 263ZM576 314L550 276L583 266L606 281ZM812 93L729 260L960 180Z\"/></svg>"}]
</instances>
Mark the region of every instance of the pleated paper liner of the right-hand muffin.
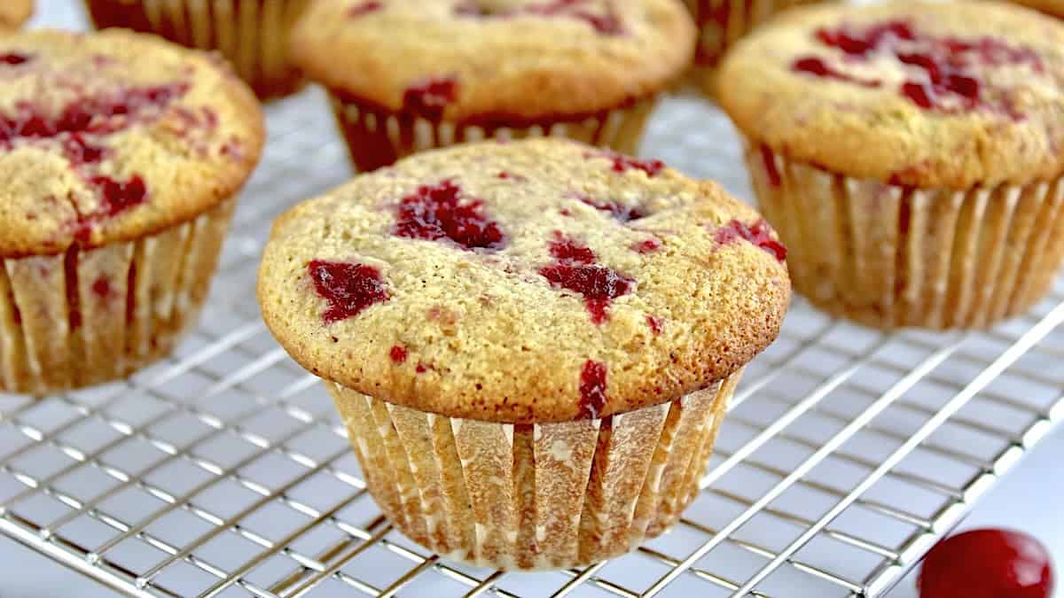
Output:
<instances>
[{"instance_id":1,"label":"pleated paper liner of the right-hand muffin","mask_svg":"<svg viewBox=\"0 0 1064 598\"><path fill-rule=\"evenodd\" d=\"M858 180L748 146L795 288L876 328L986 328L1048 292L1064 259L1064 185L966 190Z\"/></svg>"}]
</instances>

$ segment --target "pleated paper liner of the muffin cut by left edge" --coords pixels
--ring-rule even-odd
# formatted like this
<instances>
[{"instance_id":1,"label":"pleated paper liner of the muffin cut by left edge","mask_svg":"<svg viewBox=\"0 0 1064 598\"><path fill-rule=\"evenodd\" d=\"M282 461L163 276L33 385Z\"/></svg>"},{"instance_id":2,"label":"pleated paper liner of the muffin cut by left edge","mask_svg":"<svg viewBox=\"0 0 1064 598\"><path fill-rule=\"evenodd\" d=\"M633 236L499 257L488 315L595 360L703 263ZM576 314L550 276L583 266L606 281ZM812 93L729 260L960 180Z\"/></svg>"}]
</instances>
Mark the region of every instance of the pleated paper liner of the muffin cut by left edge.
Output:
<instances>
[{"instance_id":1,"label":"pleated paper liner of the muffin cut by left edge","mask_svg":"<svg viewBox=\"0 0 1064 598\"><path fill-rule=\"evenodd\" d=\"M234 205L135 242L0 259L0 392L99 384L166 355L206 298Z\"/></svg>"}]
</instances>

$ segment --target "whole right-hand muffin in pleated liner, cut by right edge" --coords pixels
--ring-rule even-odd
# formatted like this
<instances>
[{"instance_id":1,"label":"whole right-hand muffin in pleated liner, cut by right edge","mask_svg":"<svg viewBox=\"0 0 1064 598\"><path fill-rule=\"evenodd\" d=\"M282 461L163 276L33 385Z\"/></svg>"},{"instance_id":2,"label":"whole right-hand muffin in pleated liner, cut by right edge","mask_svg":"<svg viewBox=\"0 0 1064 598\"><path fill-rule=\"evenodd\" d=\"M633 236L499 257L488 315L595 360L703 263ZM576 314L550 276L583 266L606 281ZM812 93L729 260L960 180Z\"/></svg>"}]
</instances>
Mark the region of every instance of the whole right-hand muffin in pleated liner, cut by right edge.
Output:
<instances>
[{"instance_id":1,"label":"whole right-hand muffin in pleated liner, cut by right edge","mask_svg":"<svg viewBox=\"0 0 1064 598\"><path fill-rule=\"evenodd\" d=\"M982 328L1064 252L1064 24L991 2L814 6L721 69L795 286L877 328Z\"/></svg>"}]
</instances>

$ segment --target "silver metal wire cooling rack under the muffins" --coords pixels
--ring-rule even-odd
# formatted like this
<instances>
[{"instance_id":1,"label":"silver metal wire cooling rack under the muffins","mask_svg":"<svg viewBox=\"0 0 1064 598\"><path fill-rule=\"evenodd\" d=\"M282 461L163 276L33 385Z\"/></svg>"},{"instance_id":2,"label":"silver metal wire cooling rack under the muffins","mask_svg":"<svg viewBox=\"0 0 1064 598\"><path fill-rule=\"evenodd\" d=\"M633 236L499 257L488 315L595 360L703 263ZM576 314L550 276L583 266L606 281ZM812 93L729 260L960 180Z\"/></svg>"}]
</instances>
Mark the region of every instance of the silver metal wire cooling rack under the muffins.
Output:
<instances>
[{"instance_id":1,"label":"silver metal wire cooling rack under the muffins","mask_svg":"<svg viewBox=\"0 0 1064 598\"><path fill-rule=\"evenodd\" d=\"M49 23L81 27L72 3ZM747 370L670 533L583 570L449 563L365 492L321 385L260 322L270 219L347 179L316 90L270 105L200 327L104 387L0 396L0 531L134 596L879 596L1064 418L1064 288L987 333L880 334L802 302ZM645 153L749 196L734 133L674 99Z\"/></svg>"}]
</instances>

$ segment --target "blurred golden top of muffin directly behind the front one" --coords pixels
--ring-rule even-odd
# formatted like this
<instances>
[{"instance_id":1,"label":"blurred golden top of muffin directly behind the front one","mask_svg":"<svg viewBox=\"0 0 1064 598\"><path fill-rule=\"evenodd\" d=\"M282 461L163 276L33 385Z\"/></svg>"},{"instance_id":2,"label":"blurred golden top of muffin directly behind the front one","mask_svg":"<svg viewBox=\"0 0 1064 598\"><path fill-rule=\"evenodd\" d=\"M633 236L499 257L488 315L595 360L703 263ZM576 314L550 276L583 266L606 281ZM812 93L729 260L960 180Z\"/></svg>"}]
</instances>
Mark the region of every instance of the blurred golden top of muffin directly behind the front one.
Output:
<instances>
[{"instance_id":1,"label":"blurred golden top of muffin directly behind the front one","mask_svg":"<svg viewBox=\"0 0 1064 598\"><path fill-rule=\"evenodd\" d=\"M677 0L318 0L292 50L326 86L446 120L614 109L694 53Z\"/></svg>"}]
</instances>

